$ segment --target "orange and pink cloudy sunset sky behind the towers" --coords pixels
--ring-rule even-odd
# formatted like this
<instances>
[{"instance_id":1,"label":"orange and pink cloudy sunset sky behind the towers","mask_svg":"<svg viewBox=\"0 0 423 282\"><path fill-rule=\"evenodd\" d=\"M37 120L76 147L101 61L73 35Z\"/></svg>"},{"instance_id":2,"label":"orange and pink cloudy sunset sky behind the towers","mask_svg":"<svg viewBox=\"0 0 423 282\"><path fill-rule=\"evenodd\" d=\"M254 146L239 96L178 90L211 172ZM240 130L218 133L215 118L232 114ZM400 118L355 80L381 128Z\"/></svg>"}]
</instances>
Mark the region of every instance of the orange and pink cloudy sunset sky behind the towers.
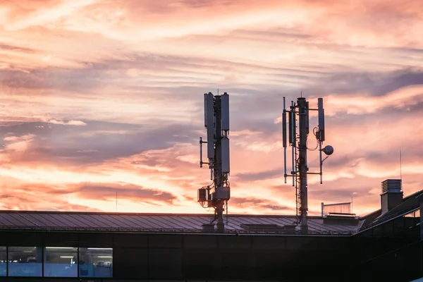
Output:
<instances>
[{"instance_id":1,"label":"orange and pink cloudy sunset sky behind the towers","mask_svg":"<svg viewBox=\"0 0 423 282\"><path fill-rule=\"evenodd\" d=\"M301 91L324 98L335 148L309 214L378 209L400 149L404 194L423 189L422 1L3 0L0 209L115 212L118 192L118 212L207 212L198 138L218 88L230 213L295 213L280 116Z\"/></svg>"}]
</instances>

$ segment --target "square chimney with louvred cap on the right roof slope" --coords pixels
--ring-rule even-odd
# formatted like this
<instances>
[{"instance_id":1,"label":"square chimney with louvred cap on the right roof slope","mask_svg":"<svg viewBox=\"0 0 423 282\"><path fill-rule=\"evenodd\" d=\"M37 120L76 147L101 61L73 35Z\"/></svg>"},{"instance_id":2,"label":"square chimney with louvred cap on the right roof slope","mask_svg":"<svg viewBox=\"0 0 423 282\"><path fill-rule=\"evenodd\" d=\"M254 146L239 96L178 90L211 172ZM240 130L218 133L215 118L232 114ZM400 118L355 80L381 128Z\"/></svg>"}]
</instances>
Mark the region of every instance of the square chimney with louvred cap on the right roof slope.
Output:
<instances>
[{"instance_id":1,"label":"square chimney with louvred cap on the right roof slope","mask_svg":"<svg viewBox=\"0 0 423 282\"><path fill-rule=\"evenodd\" d=\"M381 210L389 212L403 202L403 184L401 179L386 179L382 182Z\"/></svg>"}]
</instances>

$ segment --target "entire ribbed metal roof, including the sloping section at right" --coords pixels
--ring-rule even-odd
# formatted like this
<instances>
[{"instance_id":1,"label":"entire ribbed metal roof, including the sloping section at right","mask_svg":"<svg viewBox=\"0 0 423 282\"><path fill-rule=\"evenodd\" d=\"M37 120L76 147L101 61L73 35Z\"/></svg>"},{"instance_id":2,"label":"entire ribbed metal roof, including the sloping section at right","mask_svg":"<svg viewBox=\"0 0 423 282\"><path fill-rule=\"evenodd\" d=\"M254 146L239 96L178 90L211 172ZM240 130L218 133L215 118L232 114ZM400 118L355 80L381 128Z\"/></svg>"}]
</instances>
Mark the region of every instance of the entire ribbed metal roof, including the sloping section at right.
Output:
<instances>
[{"instance_id":1,"label":"entire ribbed metal roof, including the sloping section at right","mask_svg":"<svg viewBox=\"0 0 423 282\"><path fill-rule=\"evenodd\" d=\"M419 208L423 190L404 197L397 207L382 214L381 209L358 218L351 214L309 216L307 235L353 235ZM347 215L347 216L345 216ZM226 221L227 219L227 221ZM204 233L211 214L139 214L112 212L30 212L0 211L0 231L91 231L140 233ZM225 233L299 234L295 216L229 214ZM203 226L205 225L205 226Z\"/></svg>"}]
</instances>

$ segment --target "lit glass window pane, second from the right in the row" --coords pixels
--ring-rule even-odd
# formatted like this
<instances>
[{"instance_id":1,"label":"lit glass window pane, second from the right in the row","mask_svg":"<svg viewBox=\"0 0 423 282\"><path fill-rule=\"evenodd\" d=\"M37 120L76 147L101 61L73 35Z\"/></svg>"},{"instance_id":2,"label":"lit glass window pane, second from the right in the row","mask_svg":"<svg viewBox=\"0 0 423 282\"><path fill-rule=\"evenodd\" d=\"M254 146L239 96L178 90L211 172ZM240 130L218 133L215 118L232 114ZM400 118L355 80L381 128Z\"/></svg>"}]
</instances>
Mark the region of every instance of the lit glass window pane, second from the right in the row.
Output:
<instances>
[{"instance_id":1,"label":"lit glass window pane, second from the right in the row","mask_svg":"<svg viewBox=\"0 0 423 282\"><path fill-rule=\"evenodd\" d=\"M78 247L45 247L44 276L77 277Z\"/></svg>"}]
</instances>

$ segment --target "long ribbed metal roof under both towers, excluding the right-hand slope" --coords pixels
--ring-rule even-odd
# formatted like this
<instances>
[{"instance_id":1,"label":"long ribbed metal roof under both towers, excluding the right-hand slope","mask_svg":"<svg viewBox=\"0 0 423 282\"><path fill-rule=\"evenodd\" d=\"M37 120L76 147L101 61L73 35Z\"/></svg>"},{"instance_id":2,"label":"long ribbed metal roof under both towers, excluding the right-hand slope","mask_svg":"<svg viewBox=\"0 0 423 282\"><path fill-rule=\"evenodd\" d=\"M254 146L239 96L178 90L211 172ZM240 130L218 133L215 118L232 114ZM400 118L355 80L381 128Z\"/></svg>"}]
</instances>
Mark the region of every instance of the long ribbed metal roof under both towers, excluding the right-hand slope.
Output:
<instances>
[{"instance_id":1,"label":"long ribbed metal roof under both towers, excluding the right-hand slope","mask_svg":"<svg viewBox=\"0 0 423 282\"><path fill-rule=\"evenodd\" d=\"M95 231L95 232L140 232L140 233L202 233L202 224L210 223L212 214L139 214L111 212L32 212L0 211L0 231ZM228 214L225 233L300 233L283 226L292 226L295 216ZM246 230L241 225L269 226L275 231ZM309 216L309 235L350 235L357 232L358 224L345 225L338 222L324 223L321 216ZM303 233L301 233L304 235Z\"/></svg>"}]
</instances>

